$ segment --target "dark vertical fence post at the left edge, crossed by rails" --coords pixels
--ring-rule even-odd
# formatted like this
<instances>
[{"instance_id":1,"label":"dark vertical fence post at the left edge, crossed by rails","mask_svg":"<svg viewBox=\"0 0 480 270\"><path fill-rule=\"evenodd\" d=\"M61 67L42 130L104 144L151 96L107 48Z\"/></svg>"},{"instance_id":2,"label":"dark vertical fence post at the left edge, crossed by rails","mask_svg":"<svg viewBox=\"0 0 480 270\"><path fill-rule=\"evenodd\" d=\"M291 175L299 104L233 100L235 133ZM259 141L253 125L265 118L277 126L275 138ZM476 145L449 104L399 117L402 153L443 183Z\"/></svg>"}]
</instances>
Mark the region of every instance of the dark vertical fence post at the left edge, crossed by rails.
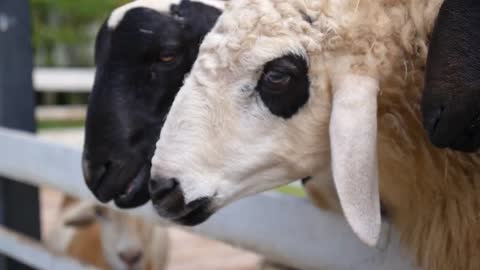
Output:
<instances>
[{"instance_id":1,"label":"dark vertical fence post at the left edge, crossed by rails","mask_svg":"<svg viewBox=\"0 0 480 270\"><path fill-rule=\"evenodd\" d=\"M29 2L0 0L0 125L34 132ZM38 189L0 178L0 223L40 239ZM30 268L2 258L0 270L7 269Z\"/></svg>"}]
</instances>

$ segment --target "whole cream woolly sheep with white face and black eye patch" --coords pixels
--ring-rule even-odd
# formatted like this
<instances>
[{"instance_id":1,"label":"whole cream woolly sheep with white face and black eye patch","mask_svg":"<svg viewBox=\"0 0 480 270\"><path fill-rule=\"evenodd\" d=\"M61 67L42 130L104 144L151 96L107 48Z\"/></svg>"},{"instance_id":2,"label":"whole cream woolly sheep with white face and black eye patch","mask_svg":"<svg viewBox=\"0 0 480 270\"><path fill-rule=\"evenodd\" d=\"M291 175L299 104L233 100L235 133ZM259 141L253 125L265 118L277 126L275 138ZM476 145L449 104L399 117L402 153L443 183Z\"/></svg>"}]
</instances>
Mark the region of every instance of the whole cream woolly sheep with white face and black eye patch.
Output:
<instances>
[{"instance_id":1,"label":"whole cream woolly sheep with white face and black eye patch","mask_svg":"<svg viewBox=\"0 0 480 270\"><path fill-rule=\"evenodd\" d=\"M433 147L421 124L441 3L232 1L157 143L157 212L197 224L241 197L311 176L331 204L335 183L366 243L378 239L381 201L421 269L478 269L480 155Z\"/></svg>"}]
</instances>

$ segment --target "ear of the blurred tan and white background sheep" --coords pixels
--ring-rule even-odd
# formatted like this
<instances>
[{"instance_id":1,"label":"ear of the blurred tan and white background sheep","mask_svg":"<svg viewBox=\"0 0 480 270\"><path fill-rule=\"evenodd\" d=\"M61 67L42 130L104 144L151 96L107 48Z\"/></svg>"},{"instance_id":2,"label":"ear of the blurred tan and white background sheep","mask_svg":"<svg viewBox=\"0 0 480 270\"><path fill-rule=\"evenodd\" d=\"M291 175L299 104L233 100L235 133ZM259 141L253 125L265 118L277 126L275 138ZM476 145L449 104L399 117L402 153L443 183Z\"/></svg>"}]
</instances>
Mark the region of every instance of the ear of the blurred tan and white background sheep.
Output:
<instances>
[{"instance_id":1,"label":"ear of the blurred tan and white background sheep","mask_svg":"<svg viewBox=\"0 0 480 270\"><path fill-rule=\"evenodd\" d=\"M93 224L95 219L95 204L92 202L79 202L66 209L63 215L63 224L72 227L85 227Z\"/></svg>"}]
</instances>

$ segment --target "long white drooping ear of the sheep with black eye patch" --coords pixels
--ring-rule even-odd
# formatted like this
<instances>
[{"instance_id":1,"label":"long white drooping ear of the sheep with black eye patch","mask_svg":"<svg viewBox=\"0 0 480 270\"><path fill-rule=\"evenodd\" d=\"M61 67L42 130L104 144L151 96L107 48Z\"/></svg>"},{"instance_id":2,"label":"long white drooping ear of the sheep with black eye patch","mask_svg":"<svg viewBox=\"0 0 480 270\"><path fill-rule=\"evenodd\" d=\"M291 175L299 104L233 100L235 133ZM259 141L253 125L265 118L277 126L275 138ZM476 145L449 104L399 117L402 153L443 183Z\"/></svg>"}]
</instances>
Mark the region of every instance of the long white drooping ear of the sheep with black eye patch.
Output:
<instances>
[{"instance_id":1,"label":"long white drooping ear of the sheep with black eye patch","mask_svg":"<svg viewBox=\"0 0 480 270\"><path fill-rule=\"evenodd\" d=\"M332 172L345 217L366 244L381 227L377 160L378 81L347 74L332 80Z\"/></svg>"}]
</instances>

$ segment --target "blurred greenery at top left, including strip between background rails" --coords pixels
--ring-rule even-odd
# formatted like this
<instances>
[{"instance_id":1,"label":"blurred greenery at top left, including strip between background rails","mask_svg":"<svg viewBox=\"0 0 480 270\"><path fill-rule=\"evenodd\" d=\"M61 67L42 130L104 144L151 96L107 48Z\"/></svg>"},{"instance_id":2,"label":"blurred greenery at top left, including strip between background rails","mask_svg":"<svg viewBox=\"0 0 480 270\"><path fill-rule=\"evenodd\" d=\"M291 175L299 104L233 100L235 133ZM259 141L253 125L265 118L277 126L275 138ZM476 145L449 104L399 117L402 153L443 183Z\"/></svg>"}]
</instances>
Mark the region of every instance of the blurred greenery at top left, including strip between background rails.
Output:
<instances>
[{"instance_id":1,"label":"blurred greenery at top left, including strip between background rails","mask_svg":"<svg viewBox=\"0 0 480 270\"><path fill-rule=\"evenodd\" d=\"M91 66L96 32L115 7L127 2L30 0L36 65ZM37 104L85 104L87 94L37 93L36 99Z\"/></svg>"}]
</instances>

